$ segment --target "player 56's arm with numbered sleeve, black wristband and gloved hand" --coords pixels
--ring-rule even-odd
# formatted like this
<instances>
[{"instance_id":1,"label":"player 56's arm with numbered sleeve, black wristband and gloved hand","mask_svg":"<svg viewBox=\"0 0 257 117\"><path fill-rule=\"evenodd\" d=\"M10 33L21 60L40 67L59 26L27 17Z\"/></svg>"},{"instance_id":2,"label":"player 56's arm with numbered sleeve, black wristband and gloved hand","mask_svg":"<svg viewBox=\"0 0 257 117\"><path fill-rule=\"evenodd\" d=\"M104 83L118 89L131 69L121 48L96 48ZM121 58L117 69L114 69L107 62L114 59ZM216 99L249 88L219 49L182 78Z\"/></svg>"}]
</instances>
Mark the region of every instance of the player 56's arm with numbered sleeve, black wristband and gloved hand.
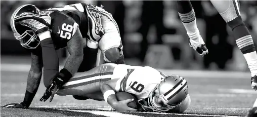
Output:
<instances>
[{"instance_id":1,"label":"player 56's arm with numbered sleeve, black wristband and gloved hand","mask_svg":"<svg viewBox=\"0 0 257 117\"><path fill-rule=\"evenodd\" d=\"M58 30L59 32L60 31L59 27L61 27L60 33L57 32L55 34L57 34L57 37L60 37L60 40L67 41L67 49L68 49L68 52L70 53L70 56L66 60L64 68L61 69L59 73L57 72L57 74L53 73L53 75L56 74L53 76L53 78L51 78L53 82L47 88L44 95L40 98L40 101L46 101L51 96L50 98L50 102L51 102L52 99L54 98L54 94L60 89L61 86L63 86L65 83L69 81L69 79L77 71L80 63L83 60L83 40L82 40L82 35L80 33L80 30L78 28L78 24L73 19L70 19L67 17L65 17L63 21L55 22L55 23L57 24L55 26L57 29L53 28L52 33L57 32L56 30ZM53 50L52 46L51 46L51 49ZM51 57L51 58L55 59L55 57ZM52 63L52 64L58 64L58 65L52 65L51 68L55 68L55 66L56 68L57 66L59 68L59 62ZM44 64L44 67L45 67L45 64ZM50 72L50 74L51 73L52 72Z\"/></svg>"}]
</instances>

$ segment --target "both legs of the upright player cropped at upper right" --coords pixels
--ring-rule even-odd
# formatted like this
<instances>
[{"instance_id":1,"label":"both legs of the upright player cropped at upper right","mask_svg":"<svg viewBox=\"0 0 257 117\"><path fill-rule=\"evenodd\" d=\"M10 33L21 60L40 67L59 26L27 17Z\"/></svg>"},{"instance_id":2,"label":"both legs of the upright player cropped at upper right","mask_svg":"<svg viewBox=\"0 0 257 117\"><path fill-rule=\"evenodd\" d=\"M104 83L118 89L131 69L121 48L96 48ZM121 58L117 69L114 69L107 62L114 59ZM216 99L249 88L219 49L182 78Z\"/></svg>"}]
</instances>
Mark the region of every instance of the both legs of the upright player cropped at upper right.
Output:
<instances>
[{"instance_id":1,"label":"both legs of the upright player cropped at upper right","mask_svg":"<svg viewBox=\"0 0 257 117\"><path fill-rule=\"evenodd\" d=\"M251 87L257 90L257 54L252 37L245 26L239 9L239 1L210 1L233 31L238 48L244 55L251 72ZM190 47L200 55L208 53L196 25L195 12L190 1L177 1L178 12L187 34Z\"/></svg>"}]
</instances>

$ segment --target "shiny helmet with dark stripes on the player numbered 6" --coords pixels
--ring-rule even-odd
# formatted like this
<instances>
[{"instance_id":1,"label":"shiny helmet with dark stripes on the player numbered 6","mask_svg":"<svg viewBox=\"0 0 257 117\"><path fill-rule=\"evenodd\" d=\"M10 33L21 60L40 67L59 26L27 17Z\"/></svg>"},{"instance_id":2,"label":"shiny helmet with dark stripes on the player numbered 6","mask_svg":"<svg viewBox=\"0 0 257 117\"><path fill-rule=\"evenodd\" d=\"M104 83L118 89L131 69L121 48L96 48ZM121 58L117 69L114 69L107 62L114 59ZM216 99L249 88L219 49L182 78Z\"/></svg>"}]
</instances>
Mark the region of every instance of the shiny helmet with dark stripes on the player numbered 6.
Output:
<instances>
[{"instance_id":1,"label":"shiny helmet with dark stripes on the player numbered 6","mask_svg":"<svg viewBox=\"0 0 257 117\"><path fill-rule=\"evenodd\" d=\"M179 106L187 94L188 85L183 77L178 75L165 76L163 81L150 93L147 106L142 105L142 108L147 111L169 111Z\"/></svg>"}]
</instances>

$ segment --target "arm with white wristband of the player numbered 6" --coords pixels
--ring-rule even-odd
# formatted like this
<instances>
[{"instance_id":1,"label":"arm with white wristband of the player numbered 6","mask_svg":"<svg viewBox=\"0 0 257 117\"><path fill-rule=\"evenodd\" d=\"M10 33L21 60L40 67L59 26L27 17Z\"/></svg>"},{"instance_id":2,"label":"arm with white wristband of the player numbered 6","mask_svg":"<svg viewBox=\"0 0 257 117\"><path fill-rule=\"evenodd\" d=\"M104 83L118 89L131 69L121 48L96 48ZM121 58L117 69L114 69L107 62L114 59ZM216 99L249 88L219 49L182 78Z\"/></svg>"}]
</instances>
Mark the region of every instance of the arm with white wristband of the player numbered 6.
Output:
<instances>
[{"instance_id":1,"label":"arm with white wristband of the player numbered 6","mask_svg":"<svg viewBox=\"0 0 257 117\"><path fill-rule=\"evenodd\" d=\"M105 101L110 104L116 111L137 111L137 109L130 108L127 103L132 102L133 99L127 99L123 101L118 101L115 96L115 89L119 89L120 84L118 84L120 79L113 79L105 82L101 87ZM117 85L118 84L118 85Z\"/></svg>"}]
</instances>

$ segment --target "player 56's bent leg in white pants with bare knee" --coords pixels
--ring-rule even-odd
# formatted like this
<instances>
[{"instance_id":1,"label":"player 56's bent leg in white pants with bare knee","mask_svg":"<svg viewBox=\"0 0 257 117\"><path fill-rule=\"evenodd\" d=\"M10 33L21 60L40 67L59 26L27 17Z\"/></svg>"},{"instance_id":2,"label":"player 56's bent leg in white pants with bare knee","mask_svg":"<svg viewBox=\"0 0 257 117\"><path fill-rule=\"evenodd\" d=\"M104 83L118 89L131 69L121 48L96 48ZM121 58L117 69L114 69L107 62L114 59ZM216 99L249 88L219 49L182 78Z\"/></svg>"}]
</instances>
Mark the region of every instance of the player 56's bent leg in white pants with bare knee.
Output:
<instances>
[{"instance_id":1,"label":"player 56's bent leg in white pants with bare knee","mask_svg":"<svg viewBox=\"0 0 257 117\"><path fill-rule=\"evenodd\" d=\"M99 41L104 60L107 63L124 64L122 43L119 35L119 28L111 14L104 12L101 19L105 34Z\"/></svg>"}]
</instances>

